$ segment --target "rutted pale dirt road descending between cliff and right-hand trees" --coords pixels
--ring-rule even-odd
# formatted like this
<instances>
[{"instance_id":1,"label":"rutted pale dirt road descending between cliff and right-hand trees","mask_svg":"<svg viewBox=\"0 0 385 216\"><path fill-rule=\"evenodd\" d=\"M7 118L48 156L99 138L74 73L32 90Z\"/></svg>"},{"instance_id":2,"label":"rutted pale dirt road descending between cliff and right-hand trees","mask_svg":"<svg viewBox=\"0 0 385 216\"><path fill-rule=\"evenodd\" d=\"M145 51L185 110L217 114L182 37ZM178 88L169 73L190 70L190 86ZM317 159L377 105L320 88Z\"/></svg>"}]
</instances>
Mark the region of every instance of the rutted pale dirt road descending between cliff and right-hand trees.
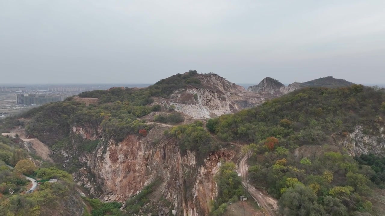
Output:
<instances>
[{"instance_id":1,"label":"rutted pale dirt road descending between cliff and right-hand trees","mask_svg":"<svg viewBox=\"0 0 385 216\"><path fill-rule=\"evenodd\" d=\"M263 208L263 213L266 216L275 216L275 213L273 210L278 210L277 201L274 200L273 198L263 195L260 191L258 191L256 188L254 188L251 185L247 187L248 185L247 179L246 179L247 172L248 172L248 166L246 163L247 158L248 158L247 156L244 156L242 160L239 161L239 166L238 166L238 173L241 174L243 179L242 184L244 188L246 189L248 188L248 191L251 194L251 196L253 196L255 201L257 201L258 204Z\"/></svg>"}]
</instances>

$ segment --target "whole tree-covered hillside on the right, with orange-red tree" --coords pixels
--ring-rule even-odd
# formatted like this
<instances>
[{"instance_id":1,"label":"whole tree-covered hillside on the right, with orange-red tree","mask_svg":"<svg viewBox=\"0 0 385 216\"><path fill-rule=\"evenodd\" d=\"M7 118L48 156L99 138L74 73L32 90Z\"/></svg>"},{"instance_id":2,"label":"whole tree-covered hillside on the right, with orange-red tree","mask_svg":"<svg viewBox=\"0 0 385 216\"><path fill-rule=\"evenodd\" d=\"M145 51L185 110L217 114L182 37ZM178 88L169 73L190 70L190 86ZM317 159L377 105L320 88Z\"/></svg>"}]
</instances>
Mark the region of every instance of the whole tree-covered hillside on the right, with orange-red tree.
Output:
<instances>
[{"instance_id":1,"label":"whole tree-covered hillside on the right, with orange-red tree","mask_svg":"<svg viewBox=\"0 0 385 216\"><path fill-rule=\"evenodd\" d=\"M383 215L371 202L373 190L384 188L382 155L355 160L332 135L361 125L382 142L374 128L383 128L384 117L384 90L353 85L304 88L206 127L221 140L249 143L249 179L279 199L281 215ZM297 153L305 148L307 155Z\"/></svg>"}]
</instances>

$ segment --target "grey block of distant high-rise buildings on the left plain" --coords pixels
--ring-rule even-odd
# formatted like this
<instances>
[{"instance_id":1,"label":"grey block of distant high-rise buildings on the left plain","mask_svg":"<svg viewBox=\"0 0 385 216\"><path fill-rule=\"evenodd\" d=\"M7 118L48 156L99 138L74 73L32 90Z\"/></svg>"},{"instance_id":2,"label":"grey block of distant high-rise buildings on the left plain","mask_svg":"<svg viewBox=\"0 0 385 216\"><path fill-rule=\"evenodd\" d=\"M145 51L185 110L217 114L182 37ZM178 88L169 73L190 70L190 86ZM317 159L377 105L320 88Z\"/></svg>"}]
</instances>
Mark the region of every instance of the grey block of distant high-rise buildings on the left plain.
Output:
<instances>
[{"instance_id":1,"label":"grey block of distant high-rise buildings on the left plain","mask_svg":"<svg viewBox=\"0 0 385 216\"><path fill-rule=\"evenodd\" d=\"M18 94L16 95L17 105L41 105L50 102L63 101L64 96L52 94Z\"/></svg>"}]
</instances>

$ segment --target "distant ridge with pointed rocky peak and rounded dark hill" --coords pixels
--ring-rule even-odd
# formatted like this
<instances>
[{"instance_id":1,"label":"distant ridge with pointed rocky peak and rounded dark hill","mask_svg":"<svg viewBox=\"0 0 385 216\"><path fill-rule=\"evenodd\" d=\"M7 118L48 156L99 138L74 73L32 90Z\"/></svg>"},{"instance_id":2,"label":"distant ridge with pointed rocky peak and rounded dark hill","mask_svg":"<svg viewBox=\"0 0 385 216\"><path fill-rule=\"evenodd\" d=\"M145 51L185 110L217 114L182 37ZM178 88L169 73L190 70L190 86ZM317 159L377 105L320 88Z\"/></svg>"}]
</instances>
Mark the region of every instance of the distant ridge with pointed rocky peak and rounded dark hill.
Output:
<instances>
[{"instance_id":1,"label":"distant ridge with pointed rocky peak and rounded dark hill","mask_svg":"<svg viewBox=\"0 0 385 216\"><path fill-rule=\"evenodd\" d=\"M304 83L295 82L288 86L283 85L278 80L275 80L270 77L266 77L261 82L259 82L258 85L249 86L247 90L263 93L264 96L266 97L277 97L303 87L337 88L337 87L351 86L351 85L353 85L352 82L349 82L343 79L336 79L333 76L326 76L323 78L318 78L318 79L307 81Z\"/></svg>"}]
</instances>

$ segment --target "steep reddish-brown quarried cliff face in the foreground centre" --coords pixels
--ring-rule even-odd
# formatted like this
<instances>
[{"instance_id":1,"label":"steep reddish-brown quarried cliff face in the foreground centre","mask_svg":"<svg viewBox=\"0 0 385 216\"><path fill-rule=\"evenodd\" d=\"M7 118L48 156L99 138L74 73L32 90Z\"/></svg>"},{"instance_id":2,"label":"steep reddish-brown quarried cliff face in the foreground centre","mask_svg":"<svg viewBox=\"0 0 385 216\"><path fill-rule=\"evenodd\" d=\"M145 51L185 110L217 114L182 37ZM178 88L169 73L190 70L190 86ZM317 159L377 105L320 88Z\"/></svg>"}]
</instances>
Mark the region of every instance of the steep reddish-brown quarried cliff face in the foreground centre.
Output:
<instances>
[{"instance_id":1,"label":"steep reddish-brown quarried cliff face in the foreground centre","mask_svg":"<svg viewBox=\"0 0 385 216\"><path fill-rule=\"evenodd\" d=\"M80 131L88 133L79 128L75 133ZM209 203L217 195L214 175L219 170L219 160L231 160L235 153L219 151L199 165L195 153L181 153L176 140L164 138L155 145L153 139L151 133L142 139L129 135L120 143L100 143L97 150L80 157L102 188L100 198L124 202L161 178L162 184L156 190L174 204L177 215L208 215ZM85 169L79 172L84 173ZM76 181L92 187L90 179L84 178Z\"/></svg>"}]
</instances>

